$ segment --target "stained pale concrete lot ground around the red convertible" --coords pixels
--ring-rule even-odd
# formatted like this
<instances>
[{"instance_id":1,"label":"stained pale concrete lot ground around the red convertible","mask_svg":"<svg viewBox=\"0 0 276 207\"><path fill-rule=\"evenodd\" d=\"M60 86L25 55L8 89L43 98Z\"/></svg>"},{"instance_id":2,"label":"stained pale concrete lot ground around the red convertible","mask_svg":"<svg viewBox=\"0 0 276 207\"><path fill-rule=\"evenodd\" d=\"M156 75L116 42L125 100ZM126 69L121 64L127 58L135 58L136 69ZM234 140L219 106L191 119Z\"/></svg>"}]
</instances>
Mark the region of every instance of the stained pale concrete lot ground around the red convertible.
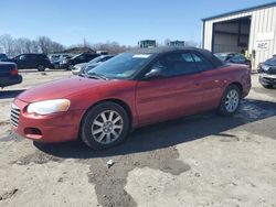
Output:
<instances>
[{"instance_id":1,"label":"stained pale concrete lot ground around the red convertible","mask_svg":"<svg viewBox=\"0 0 276 207\"><path fill-rule=\"evenodd\" d=\"M0 206L276 206L276 90L232 118L206 112L138 129L126 143L39 144L10 134L12 99L71 72L23 70L0 91ZM106 162L113 160L112 167Z\"/></svg>"}]
</instances>

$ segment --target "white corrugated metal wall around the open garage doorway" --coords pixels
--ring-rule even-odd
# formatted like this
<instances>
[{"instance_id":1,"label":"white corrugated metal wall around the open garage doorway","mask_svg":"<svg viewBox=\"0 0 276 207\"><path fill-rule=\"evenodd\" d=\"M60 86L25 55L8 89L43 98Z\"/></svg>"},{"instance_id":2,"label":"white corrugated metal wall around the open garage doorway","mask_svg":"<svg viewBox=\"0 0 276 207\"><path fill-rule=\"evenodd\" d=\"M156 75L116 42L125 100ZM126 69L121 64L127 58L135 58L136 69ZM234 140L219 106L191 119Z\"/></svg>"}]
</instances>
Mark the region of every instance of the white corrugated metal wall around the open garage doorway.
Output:
<instances>
[{"instance_id":1,"label":"white corrugated metal wall around the open garage doorway","mask_svg":"<svg viewBox=\"0 0 276 207\"><path fill-rule=\"evenodd\" d=\"M276 6L204 21L203 47L210 51L212 50L214 23L245 17L252 17L248 53L251 55L253 50L256 51L255 59L253 59L253 67L257 68L258 63L262 63L276 54ZM267 33L269 36L273 36L269 37L270 40L265 40L265 36L268 36ZM268 50L259 51L257 48L257 44L262 41L262 39L268 43Z\"/></svg>"}]
</instances>

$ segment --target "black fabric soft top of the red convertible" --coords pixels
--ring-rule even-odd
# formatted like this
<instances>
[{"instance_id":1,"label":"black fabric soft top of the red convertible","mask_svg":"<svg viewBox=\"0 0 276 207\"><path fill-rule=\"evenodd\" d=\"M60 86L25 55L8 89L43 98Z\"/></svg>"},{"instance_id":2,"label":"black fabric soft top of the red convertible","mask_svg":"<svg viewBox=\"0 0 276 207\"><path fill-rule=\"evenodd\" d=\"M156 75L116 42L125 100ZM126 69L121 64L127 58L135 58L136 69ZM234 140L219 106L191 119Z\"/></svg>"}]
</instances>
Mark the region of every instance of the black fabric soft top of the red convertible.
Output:
<instances>
[{"instance_id":1,"label":"black fabric soft top of the red convertible","mask_svg":"<svg viewBox=\"0 0 276 207\"><path fill-rule=\"evenodd\" d=\"M216 67L224 65L224 63L222 63L210 51L197 48L197 47L159 46L159 47L151 47L151 48L135 48L135 50L129 51L129 53L135 53L135 54L157 54L157 55L161 55L166 53L173 53L173 52L195 52L195 53L201 54L205 58L208 58Z\"/></svg>"}]
</instances>

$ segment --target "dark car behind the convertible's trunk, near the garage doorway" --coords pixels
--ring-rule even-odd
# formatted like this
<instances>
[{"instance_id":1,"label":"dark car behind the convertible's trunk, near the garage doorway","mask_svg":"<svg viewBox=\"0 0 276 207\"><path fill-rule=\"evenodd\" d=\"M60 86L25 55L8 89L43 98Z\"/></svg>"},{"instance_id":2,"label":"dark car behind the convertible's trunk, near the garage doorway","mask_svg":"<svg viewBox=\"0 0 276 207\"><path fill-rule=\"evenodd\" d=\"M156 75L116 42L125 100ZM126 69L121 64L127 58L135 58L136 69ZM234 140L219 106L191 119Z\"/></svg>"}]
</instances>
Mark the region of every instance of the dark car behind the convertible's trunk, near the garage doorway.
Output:
<instances>
[{"instance_id":1,"label":"dark car behind the convertible's trunk, near the garage doorway","mask_svg":"<svg viewBox=\"0 0 276 207\"><path fill-rule=\"evenodd\" d=\"M242 53L215 53L214 55L224 63L244 64L251 67L251 61Z\"/></svg>"}]
</instances>

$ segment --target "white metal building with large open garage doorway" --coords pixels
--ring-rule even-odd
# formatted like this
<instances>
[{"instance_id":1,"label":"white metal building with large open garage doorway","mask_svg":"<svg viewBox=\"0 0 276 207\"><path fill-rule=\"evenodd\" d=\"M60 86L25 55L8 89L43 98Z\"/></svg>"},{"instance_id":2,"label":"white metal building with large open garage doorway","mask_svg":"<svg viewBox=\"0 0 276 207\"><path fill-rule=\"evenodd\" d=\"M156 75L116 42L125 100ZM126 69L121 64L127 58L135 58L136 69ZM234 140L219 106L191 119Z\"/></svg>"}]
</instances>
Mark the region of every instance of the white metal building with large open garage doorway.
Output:
<instances>
[{"instance_id":1,"label":"white metal building with large open garage doorway","mask_svg":"<svg viewBox=\"0 0 276 207\"><path fill-rule=\"evenodd\" d=\"M253 69L276 54L276 2L223 13L203 21L203 48L245 52Z\"/></svg>"}]
</instances>

